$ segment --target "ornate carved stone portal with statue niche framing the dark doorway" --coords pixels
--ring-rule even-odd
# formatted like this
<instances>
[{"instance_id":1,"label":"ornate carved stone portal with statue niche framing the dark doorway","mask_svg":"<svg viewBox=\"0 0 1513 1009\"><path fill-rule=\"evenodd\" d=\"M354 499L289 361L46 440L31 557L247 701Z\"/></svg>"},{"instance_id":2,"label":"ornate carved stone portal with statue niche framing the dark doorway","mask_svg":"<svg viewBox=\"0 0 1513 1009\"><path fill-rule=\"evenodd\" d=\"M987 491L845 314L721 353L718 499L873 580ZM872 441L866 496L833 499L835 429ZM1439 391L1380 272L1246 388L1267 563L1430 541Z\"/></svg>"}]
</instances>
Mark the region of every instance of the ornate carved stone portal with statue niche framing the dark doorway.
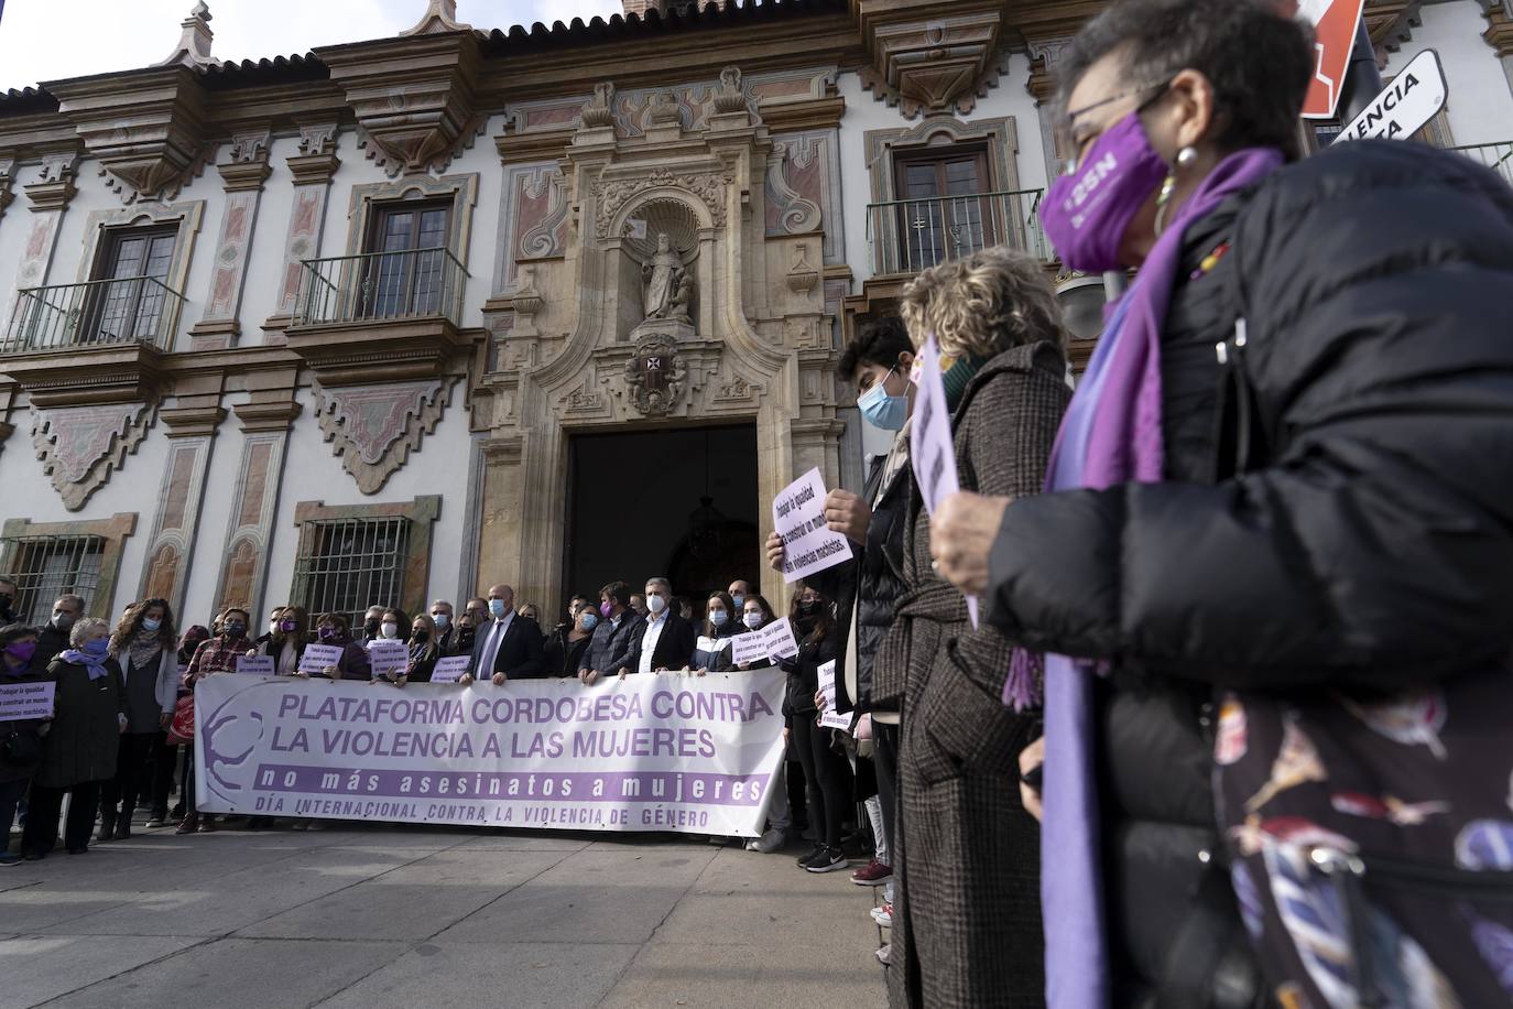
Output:
<instances>
[{"instance_id":1,"label":"ornate carved stone portal with statue niche framing the dark doorway","mask_svg":"<svg viewBox=\"0 0 1513 1009\"><path fill-rule=\"evenodd\" d=\"M769 225L782 218L769 212L782 195L769 179L790 154L737 68L638 97L634 129L622 98L601 83L558 129L552 185L570 225L493 303L475 396L487 436L480 570L517 572L523 595L546 599L561 590L575 433L755 422L761 495L811 466L832 484L840 473L838 352L820 283L838 207L814 207L806 231ZM533 141L533 156L545 151ZM766 588L781 598L781 579Z\"/></svg>"}]
</instances>

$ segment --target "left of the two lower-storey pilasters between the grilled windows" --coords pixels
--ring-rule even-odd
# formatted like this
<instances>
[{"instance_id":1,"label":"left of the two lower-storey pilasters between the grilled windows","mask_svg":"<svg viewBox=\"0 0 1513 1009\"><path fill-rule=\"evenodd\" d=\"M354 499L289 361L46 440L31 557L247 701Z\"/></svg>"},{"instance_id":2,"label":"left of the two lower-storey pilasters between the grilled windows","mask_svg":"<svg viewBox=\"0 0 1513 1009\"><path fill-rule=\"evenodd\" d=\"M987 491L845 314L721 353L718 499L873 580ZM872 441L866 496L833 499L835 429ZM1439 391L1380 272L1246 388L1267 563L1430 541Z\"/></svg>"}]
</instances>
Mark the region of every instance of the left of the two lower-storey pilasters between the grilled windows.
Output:
<instances>
[{"instance_id":1,"label":"left of the two lower-storey pilasters between the grilled windows","mask_svg":"<svg viewBox=\"0 0 1513 1009\"><path fill-rule=\"evenodd\" d=\"M225 410L219 405L219 374L182 378L177 393L177 405L159 411L168 428L168 464L157 493L157 517L147 543L138 596L166 599L176 613L183 613L210 449Z\"/></svg>"}]
</instances>

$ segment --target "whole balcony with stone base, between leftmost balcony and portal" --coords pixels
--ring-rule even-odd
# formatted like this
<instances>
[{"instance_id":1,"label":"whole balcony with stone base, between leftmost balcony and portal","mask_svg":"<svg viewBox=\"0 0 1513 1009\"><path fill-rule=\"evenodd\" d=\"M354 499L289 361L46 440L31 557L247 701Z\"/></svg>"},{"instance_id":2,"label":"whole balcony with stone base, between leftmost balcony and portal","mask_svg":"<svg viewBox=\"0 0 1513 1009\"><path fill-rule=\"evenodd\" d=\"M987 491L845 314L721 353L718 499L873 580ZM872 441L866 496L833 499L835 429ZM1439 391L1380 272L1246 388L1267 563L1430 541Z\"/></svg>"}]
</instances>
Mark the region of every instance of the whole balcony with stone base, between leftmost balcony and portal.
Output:
<instances>
[{"instance_id":1,"label":"whole balcony with stone base, between leftmost balcony and portal","mask_svg":"<svg viewBox=\"0 0 1513 1009\"><path fill-rule=\"evenodd\" d=\"M466 283L445 248L307 259L287 346L325 386L446 374L472 348Z\"/></svg>"}]
</instances>

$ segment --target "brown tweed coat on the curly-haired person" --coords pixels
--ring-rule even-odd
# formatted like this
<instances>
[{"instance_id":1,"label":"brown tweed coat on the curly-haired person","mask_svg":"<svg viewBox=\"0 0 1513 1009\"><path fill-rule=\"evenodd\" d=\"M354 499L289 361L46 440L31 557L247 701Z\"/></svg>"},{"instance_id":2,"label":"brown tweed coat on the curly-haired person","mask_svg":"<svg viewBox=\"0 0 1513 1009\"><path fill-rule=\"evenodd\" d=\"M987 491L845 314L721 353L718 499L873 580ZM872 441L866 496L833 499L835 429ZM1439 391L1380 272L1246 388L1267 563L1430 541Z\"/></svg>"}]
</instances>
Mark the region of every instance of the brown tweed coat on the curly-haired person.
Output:
<instances>
[{"instance_id":1,"label":"brown tweed coat on the curly-haired person","mask_svg":"<svg viewBox=\"0 0 1513 1009\"><path fill-rule=\"evenodd\" d=\"M1039 493L1070 398L1050 343L983 365L952 416L962 490ZM1018 793L1018 752L1036 719L1002 702L1011 641L985 620L974 631L961 593L930 570L917 489L905 579L909 591L873 670L873 697L903 700L888 1000L1038 1006L1039 824Z\"/></svg>"}]
</instances>

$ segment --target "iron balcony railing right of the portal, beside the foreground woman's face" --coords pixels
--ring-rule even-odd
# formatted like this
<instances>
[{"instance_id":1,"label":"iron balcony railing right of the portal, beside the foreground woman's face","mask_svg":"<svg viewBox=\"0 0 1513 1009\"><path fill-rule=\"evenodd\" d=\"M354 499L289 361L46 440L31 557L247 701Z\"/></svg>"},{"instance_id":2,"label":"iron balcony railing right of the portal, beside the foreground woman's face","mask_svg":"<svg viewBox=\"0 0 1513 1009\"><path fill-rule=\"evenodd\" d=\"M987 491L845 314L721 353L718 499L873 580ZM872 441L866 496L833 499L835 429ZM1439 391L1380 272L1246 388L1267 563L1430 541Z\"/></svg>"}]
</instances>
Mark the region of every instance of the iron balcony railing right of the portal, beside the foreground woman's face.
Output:
<instances>
[{"instance_id":1,"label":"iron balcony railing right of the portal, beside the foreground woman's face","mask_svg":"<svg viewBox=\"0 0 1513 1009\"><path fill-rule=\"evenodd\" d=\"M1039 225L1042 189L894 200L867 206L867 251L876 275L917 274L988 245L1049 260Z\"/></svg>"}]
</instances>

